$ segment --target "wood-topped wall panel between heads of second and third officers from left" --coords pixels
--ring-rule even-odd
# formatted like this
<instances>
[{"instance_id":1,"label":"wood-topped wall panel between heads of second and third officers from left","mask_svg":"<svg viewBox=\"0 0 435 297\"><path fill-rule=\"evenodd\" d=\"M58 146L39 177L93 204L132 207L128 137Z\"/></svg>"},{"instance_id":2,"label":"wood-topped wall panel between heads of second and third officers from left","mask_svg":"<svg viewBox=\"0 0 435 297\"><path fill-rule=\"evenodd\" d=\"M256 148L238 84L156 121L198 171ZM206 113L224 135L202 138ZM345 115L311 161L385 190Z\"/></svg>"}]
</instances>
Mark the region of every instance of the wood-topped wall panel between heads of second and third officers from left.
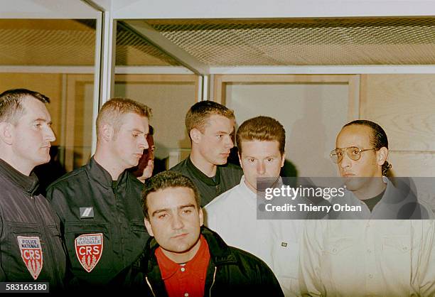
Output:
<instances>
[{"instance_id":1,"label":"wood-topped wall panel between heads of second and third officers from left","mask_svg":"<svg viewBox=\"0 0 435 297\"><path fill-rule=\"evenodd\" d=\"M156 156L190 148L184 119L197 102L198 75L115 75L115 95L142 102L153 109Z\"/></svg>"}]
</instances>

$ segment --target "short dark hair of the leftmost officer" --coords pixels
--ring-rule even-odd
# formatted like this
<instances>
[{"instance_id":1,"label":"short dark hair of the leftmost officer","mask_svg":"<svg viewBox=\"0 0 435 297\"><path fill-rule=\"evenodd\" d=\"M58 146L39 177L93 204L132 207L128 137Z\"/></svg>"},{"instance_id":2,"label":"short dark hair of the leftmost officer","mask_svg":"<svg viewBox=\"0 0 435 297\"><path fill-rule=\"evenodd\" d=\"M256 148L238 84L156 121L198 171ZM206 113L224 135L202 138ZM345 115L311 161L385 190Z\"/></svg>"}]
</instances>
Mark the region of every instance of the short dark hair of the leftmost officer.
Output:
<instances>
[{"instance_id":1,"label":"short dark hair of the leftmost officer","mask_svg":"<svg viewBox=\"0 0 435 297\"><path fill-rule=\"evenodd\" d=\"M47 96L35 91L26 89L7 90L0 94L0 121L16 124L23 115L24 109L21 103L26 97L33 97L44 104L50 103Z\"/></svg>"}]
</instances>

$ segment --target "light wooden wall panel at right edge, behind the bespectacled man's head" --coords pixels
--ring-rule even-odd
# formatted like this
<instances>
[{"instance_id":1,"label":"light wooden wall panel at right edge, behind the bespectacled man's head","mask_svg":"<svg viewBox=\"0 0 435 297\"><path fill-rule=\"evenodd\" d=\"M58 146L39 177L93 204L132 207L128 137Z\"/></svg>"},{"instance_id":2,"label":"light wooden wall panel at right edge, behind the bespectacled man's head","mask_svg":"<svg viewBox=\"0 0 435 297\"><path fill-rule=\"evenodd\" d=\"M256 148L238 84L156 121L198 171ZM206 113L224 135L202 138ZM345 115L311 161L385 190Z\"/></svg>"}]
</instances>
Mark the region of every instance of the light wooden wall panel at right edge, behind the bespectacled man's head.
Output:
<instances>
[{"instance_id":1,"label":"light wooden wall panel at right edge, behind the bespectacled man's head","mask_svg":"<svg viewBox=\"0 0 435 297\"><path fill-rule=\"evenodd\" d=\"M385 129L390 149L435 151L435 75L362 75L360 117Z\"/></svg>"}]
</instances>

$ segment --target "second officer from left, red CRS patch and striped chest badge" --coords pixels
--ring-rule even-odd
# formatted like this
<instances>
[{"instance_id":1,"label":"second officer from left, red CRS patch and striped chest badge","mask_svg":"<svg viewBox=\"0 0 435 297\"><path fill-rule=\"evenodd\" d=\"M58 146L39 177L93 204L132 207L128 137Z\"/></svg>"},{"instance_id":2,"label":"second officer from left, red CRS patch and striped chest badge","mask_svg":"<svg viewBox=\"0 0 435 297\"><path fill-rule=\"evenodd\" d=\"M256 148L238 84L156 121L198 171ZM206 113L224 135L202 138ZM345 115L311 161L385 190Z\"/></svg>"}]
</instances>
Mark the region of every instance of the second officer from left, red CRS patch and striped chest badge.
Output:
<instances>
[{"instance_id":1,"label":"second officer from left, red CRS patch and striped chest badge","mask_svg":"<svg viewBox=\"0 0 435 297\"><path fill-rule=\"evenodd\" d=\"M151 109L130 99L106 102L97 117L97 149L89 163L48 187L61 220L70 288L109 288L149 238L142 183L127 168L148 148Z\"/></svg>"}]
</instances>

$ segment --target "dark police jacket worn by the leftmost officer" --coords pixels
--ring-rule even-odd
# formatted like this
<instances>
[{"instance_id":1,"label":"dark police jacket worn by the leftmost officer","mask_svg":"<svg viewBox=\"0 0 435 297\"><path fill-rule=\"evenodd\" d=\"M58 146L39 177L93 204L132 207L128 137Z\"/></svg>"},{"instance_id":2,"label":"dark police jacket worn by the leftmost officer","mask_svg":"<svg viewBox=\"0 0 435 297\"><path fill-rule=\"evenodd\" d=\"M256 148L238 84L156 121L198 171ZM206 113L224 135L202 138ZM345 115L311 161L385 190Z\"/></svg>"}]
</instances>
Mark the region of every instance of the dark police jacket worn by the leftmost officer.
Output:
<instances>
[{"instance_id":1,"label":"dark police jacket worn by the leftmost officer","mask_svg":"<svg viewBox=\"0 0 435 297\"><path fill-rule=\"evenodd\" d=\"M55 291L63 287L65 261L59 219L38 194L38 178L0 159L0 281L48 281Z\"/></svg>"}]
</instances>

